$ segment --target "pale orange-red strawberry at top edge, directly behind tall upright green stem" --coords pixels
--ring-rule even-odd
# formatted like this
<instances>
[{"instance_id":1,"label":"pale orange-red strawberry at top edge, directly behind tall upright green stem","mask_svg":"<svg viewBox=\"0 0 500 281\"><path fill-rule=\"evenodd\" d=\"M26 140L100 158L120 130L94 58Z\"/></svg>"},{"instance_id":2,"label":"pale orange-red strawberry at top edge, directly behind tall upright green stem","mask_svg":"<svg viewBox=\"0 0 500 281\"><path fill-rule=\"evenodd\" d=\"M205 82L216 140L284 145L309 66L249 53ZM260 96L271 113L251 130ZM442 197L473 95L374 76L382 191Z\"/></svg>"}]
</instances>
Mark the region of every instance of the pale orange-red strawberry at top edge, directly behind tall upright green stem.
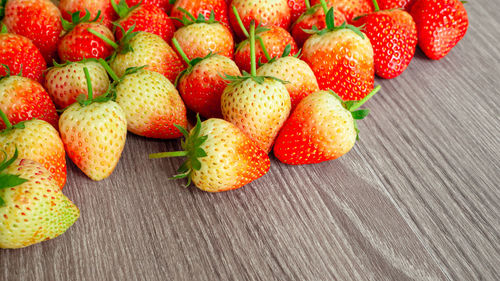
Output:
<instances>
[{"instance_id":1,"label":"pale orange-red strawberry at top edge, directly behind tall upright green stem","mask_svg":"<svg viewBox=\"0 0 500 281\"><path fill-rule=\"evenodd\" d=\"M257 26L278 26L288 29L291 23L291 11L288 0L233 0L229 20L238 37L244 38L245 32L240 23L248 30L250 23ZM239 14L237 17L236 14ZM248 36L246 36L248 37Z\"/></svg>"}]
</instances>

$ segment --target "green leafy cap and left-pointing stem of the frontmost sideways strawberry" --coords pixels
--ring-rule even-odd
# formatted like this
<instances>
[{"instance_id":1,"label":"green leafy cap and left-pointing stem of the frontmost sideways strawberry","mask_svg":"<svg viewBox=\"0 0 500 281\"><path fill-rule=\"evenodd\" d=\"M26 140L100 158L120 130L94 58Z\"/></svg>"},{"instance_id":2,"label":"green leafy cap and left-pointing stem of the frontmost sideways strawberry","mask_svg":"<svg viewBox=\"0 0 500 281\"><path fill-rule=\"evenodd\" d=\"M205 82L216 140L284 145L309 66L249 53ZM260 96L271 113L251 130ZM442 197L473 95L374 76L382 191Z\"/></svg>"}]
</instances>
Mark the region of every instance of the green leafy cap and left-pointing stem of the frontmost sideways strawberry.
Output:
<instances>
[{"instance_id":1,"label":"green leafy cap and left-pointing stem of the frontmost sideways strawberry","mask_svg":"<svg viewBox=\"0 0 500 281\"><path fill-rule=\"evenodd\" d=\"M208 136L200 136L201 120L199 114L196 115L196 126L191 133L189 133L182 126L174 126L184 135L184 140L181 141L183 150L150 154L149 159L187 157L186 161L184 161L184 163L182 163L177 170L178 174L173 176L171 179L188 178L188 183L186 185L186 187L188 187L191 185L191 174L193 171L199 171L201 169L201 162L199 158L207 156L206 151L201 148L201 145L205 143Z\"/></svg>"}]
</instances>

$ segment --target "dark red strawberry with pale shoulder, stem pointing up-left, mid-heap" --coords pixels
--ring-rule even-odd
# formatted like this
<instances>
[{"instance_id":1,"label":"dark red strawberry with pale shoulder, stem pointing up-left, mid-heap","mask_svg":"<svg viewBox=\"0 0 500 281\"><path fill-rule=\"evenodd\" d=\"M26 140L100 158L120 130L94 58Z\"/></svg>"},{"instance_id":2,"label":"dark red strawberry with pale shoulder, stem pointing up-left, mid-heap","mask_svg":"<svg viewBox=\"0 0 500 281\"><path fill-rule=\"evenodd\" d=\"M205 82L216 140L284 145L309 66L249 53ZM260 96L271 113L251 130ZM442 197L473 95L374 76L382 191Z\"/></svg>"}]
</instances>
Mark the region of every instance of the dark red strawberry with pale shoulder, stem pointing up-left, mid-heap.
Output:
<instances>
[{"instance_id":1,"label":"dark red strawberry with pale shoulder, stem pointing up-left, mid-heap","mask_svg":"<svg viewBox=\"0 0 500 281\"><path fill-rule=\"evenodd\" d=\"M206 118L222 118L220 97L227 81L221 74L240 76L238 66L230 58L214 54L189 60L175 38L172 43L188 65L176 81L186 106Z\"/></svg>"}]
</instances>

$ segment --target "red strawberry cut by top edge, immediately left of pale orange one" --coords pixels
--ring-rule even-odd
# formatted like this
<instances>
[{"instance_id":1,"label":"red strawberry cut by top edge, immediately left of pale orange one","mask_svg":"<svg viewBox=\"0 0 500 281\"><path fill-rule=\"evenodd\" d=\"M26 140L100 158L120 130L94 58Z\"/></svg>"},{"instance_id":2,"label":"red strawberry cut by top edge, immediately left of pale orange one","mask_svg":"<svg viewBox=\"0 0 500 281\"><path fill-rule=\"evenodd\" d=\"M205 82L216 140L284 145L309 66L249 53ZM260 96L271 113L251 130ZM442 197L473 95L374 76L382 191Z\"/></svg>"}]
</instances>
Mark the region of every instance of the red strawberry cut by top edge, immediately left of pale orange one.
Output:
<instances>
[{"instance_id":1,"label":"red strawberry cut by top edge, immediately left of pale orange one","mask_svg":"<svg viewBox=\"0 0 500 281\"><path fill-rule=\"evenodd\" d=\"M229 10L224 0L177 0L172 7L171 16L182 19L185 11L196 16L202 14L207 19L210 17L211 13L214 13L214 19L216 21L230 28ZM177 22L175 22L175 25L177 28L181 27Z\"/></svg>"}]
</instances>

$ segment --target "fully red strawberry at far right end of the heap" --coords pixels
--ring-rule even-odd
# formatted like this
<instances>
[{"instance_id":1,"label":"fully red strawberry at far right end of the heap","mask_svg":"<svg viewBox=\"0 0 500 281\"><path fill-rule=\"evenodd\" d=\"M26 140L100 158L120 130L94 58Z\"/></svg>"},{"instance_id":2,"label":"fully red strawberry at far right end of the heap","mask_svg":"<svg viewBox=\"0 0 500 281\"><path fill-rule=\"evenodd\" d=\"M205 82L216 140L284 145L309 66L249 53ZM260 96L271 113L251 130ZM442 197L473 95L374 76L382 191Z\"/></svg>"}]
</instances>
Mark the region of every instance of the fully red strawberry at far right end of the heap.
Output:
<instances>
[{"instance_id":1,"label":"fully red strawberry at far right end of the heap","mask_svg":"<svg viewBox=\"0 0 500 281\"><path fill-rule=\"evenodd\" d=\"M417 24L418 45L433 60L446 56L469 26L467 11L459 0L418 0L411 15Z\"/></svg>"}]
</instances>

